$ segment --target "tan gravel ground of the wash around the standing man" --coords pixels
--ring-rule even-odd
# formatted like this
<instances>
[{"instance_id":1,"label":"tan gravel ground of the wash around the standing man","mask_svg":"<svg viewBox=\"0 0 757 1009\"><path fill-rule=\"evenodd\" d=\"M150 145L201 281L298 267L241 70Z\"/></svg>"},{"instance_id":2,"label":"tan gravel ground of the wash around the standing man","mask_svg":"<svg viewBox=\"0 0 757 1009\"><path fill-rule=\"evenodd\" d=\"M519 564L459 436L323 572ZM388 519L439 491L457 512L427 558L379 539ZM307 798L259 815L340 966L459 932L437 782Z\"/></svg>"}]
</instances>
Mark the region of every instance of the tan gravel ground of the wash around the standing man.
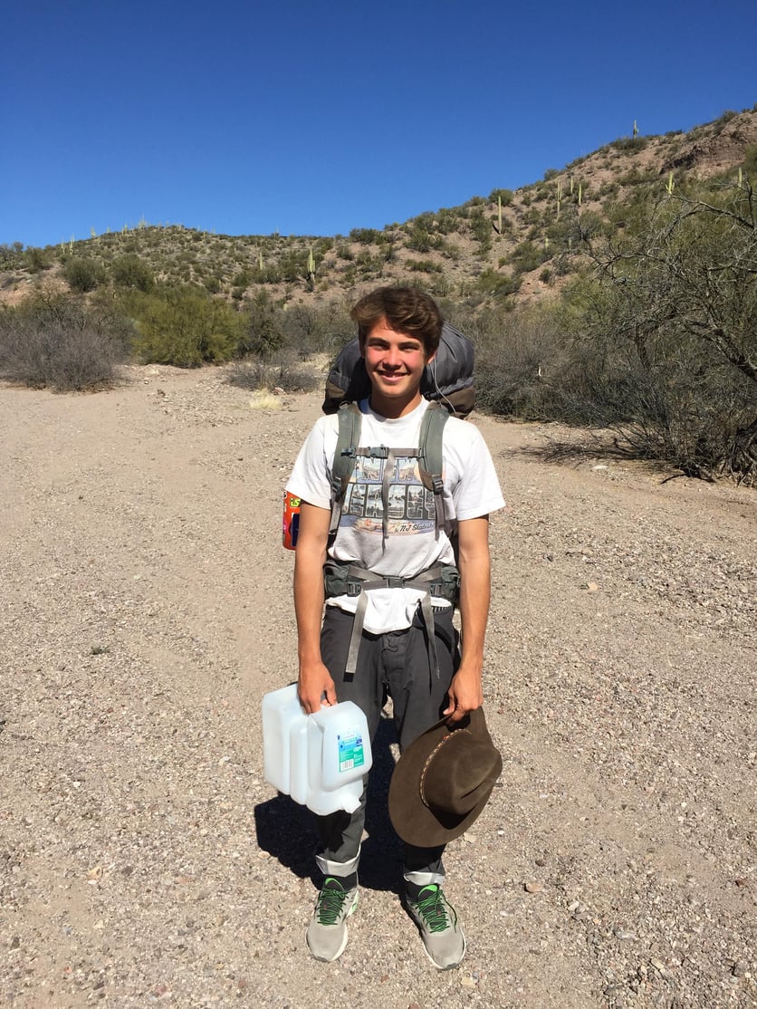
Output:
<instances>
[{"instance_id":1,"label":"tan gravel ground of the wash around the standing man","mask_svg":"<svg viewBox=\"0 0 757 1009\"><path fill-rule=\"evenodd\" d=\"M296 671L281 495L319 407L215 369L0 389L0 1004L757 1005L755 493L482 416L504 772L446 859L468 952L436 972L400 906L386 721L349 943L310 959L259 703Z\"/></svg>"}]
</instances>

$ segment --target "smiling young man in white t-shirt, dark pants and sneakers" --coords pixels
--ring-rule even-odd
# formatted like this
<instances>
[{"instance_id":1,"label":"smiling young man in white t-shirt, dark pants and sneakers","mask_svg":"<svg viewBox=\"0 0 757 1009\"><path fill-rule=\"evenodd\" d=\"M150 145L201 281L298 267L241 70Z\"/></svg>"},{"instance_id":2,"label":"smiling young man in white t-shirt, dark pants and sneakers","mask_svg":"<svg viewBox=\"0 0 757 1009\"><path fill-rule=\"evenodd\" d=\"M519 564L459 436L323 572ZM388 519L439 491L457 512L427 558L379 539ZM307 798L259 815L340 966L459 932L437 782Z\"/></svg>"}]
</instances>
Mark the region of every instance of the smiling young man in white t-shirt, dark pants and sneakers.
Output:
<instances>
[{"instance_id":1,"label":"smiling young man in white t-shirt, dark pants and sneakers","mask_svg":"<svg viewBox=\"0 0 757 1009\"><path fill-rule=\"evenodd\" d=\"M403 454L417 448L429 406L420 386L442 328L434 301L415 289L382 288L362 298L351 316L370 379L370 396L358 405L359 445L383 449L357 456L331 535L337 417L316 423L287 485L302 499L294 579L299 695L308 713L353 700L365 712L372 738L388 693L404 752L441 717L453 725L482 702L489 514L504 501L489 450L472 424L449 418L444 426L446 529L436 520L434 494L421 482L418 460ZM453 534L461 651L450 593L444 597L438 579L434 587L424 582L424 574L436 578L439 565L448 572L455 564ZM347 591L344 579L328 577L327 592L324 565L331 575L348 570ZM350 648L355 620L361 626ZM307 933L318 960L336 960L347 942L346 918L357 903L364 802L363 791L354 813L318 817L316 861L324 879ZM406 905L427 955L446 970L462 960L465 937L442 890L442 853L443 847L406 845L404 876Z\"/></svg>"}]
</instances>

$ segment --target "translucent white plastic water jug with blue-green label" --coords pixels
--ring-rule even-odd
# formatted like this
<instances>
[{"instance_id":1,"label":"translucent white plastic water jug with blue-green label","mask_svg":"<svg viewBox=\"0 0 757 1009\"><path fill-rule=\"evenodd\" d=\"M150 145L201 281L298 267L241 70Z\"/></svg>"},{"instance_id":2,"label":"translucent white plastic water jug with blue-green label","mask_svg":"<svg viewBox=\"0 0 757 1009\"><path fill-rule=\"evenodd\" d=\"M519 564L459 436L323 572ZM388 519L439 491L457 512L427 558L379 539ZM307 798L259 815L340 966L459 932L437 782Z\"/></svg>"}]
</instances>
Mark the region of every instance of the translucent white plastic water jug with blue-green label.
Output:
<instances>
[{"instance_id":1,"label":"translucent white plastic water jug with blue-green label","mask_svg":"<svg viewBox=\"0 0 757 1009\"><path fill-rule=\"evenodd\" d=\"M296 683L262 698L262 753L268 784L321 816L357 808L372 763L360 708L345 700L305 714Z\"/></svg>"}]
</instances>

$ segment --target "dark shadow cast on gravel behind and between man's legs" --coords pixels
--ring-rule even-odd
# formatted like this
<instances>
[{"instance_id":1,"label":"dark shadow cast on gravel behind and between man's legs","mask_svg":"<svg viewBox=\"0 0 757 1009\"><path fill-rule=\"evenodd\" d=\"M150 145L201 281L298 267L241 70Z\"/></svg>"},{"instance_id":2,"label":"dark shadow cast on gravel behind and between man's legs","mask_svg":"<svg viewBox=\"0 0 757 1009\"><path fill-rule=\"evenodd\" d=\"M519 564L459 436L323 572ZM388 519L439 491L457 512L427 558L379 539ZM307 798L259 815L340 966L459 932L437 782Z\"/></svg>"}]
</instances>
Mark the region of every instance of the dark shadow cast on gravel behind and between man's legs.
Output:
<instances>
[{"instance_id":1,"label":"dark shadow cast on gravel behind and between man's legs","mask_svg":"<svg viewBox=\"0 0 757 1009\"><path fill-rule=\"evenodd\" d=\"M367 837L360 851L360 886L399 893L404 849L392 827L387 801L395 767L391 747L396 741L394 721L383 714L372 744L373 766L368 775L365 808ZM297 876L310 877L318 885L314 859L318 834L313 813L280 793L255 806L254 816L260 849Z\"/></svg>"}]
</instances>

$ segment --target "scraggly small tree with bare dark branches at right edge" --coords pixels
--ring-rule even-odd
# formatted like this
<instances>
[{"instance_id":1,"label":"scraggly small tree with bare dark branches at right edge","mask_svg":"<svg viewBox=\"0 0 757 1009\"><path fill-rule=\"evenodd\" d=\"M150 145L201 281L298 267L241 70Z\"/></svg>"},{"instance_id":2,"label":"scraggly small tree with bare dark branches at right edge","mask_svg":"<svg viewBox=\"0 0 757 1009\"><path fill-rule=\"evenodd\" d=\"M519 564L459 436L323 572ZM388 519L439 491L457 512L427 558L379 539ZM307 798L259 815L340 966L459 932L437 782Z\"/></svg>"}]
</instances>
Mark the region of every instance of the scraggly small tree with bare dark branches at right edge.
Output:
<instances>
[{"instance_id":1,"label":"scraggly small tree with bare dark branches at right edge","mask_svg":"<svg viewBox=\"0 0 757 1009\"><path fill-rule=\"evenodd\" d=\"M749 184L668 191L573 289L577 401L687 472L757 470L756 210Z\"/></svg>"}]
</instances>

